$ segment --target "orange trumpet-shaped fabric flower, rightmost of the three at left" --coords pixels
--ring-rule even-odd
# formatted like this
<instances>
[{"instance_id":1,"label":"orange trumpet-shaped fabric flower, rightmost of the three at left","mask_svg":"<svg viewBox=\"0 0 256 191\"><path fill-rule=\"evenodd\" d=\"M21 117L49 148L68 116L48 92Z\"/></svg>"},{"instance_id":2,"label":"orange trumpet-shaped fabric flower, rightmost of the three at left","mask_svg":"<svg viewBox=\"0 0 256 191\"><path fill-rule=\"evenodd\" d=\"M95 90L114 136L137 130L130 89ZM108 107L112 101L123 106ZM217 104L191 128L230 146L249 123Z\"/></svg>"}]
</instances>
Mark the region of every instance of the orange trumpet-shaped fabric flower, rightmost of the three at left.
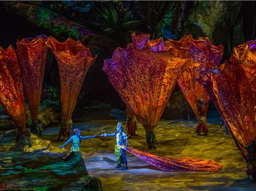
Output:
<instances>
[{"instance_id":1,"label":"orange trumpet-shaped fabric flower, rightmost of the three at left","mask_svg":"<svg viewBox=\"0 0 256 191\"><path fill-rule=\"evenodd\" d=\"M93 57L89 48L81 41L68 38L59 42L54 37L48 37L47 46L53 51L59 66L61 92L61 129L59 138L69 137L72 131L72 113L76 106L81 86L89 67L97 56Z\"/></svg>"}]
</instances>

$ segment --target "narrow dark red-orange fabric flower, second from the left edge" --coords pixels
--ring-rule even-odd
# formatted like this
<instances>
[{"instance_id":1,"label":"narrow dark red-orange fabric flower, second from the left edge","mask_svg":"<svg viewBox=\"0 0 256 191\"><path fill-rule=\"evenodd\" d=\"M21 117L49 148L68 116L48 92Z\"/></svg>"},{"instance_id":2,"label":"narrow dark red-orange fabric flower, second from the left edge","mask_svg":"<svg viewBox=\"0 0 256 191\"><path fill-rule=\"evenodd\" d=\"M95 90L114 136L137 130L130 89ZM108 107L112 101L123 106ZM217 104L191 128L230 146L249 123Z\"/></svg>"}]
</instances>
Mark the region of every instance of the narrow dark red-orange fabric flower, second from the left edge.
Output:
<instances>
[{"instance_id":1,"label":"narrow dark red-orange fabric flower, second from the left edge","mask_svg":"<svg viewBox=\"0 0 256 191\"><path fill-rule=\"evenodd\" d=\"M30 132L35 135L42 135L39 124L39 106L44 80L44 68L48 47L45 44L45 36L22 39L17 41L17 56L20 64L23 85L27 94L29 110L32 120Z\"/></svg>"}]
</instances>

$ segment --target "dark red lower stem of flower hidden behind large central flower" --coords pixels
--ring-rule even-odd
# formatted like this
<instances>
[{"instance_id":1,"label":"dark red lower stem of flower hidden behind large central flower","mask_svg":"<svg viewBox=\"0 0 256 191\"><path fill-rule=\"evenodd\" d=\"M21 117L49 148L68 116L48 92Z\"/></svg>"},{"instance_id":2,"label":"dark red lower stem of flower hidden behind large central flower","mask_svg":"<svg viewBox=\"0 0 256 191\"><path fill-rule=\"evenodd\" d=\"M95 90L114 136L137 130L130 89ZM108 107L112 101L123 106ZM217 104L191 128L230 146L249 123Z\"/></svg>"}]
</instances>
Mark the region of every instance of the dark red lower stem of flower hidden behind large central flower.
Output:
<instances>
[{"instance_id":1,"label":"dark red lower stem of flower hidden behind large central flower","mask_svg":"<svg viewBox=\"0 0 256 191\"><path fill-rule=\"evenodd\" d=\"M135 131L137 130L137 120L136 116L132 113L129 107L126 106L126 133L128 137L135 137Z\"/></svg>"}]
</instances>

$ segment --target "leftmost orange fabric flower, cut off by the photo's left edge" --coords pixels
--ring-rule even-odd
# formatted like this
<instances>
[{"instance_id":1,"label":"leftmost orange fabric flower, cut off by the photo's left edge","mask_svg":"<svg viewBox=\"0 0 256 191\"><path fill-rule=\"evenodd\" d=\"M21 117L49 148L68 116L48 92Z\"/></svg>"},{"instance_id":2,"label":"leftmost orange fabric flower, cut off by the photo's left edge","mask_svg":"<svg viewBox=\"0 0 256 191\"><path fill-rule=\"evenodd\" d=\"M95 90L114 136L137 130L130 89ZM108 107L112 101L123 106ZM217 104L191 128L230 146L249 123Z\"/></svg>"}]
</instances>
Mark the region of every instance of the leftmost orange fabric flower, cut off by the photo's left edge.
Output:
<instances>
[{"instance_id":1,"label":"leftmost orange fabric flower, cut off by the photo's left edge","mask_svg":"<svg viewBox=\"0 0 256 191\"><path fill-rule=\"evenodd\" d=\"M12 46L0 47L0 102L8 112L19 133L26 133L26 107L23 97L23 81L18 58Z\"/></svg>"}]
</instances>

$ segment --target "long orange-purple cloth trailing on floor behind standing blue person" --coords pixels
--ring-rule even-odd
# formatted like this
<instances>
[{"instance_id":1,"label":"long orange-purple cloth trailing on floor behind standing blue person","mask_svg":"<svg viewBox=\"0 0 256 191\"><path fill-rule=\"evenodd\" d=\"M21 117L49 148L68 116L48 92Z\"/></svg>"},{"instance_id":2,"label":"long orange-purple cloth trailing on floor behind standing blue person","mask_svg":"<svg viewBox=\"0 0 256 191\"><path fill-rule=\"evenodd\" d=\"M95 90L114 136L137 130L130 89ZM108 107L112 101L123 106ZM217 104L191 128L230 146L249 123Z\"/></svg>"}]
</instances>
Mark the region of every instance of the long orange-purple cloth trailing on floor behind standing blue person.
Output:
<instances>
[{"instance_id":1,"label":"long orange-purple cloth trailing on floor behind standing blue person","mask_svg":"<svg viewBox=\"0 0 256 191\"><path fill-rule=\"evenodd\" d=\"M129 147L127 152L137 156L139 159L151 164L162 171L178 172L178 171L221 171L222 165L214 162L214 160L202 160L197 158L168 158L143 152Z\"/></svg>"}]
</instances>

